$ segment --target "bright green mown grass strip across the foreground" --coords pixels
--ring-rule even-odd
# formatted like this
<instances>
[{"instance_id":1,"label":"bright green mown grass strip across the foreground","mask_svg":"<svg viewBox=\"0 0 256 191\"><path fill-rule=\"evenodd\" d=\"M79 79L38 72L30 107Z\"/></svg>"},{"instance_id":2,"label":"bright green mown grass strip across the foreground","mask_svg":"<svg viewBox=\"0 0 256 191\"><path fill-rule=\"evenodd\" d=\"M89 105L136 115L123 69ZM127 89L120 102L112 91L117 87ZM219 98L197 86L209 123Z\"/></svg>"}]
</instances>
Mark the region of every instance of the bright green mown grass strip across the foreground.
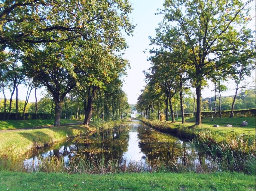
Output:
<instances>
[{"instance_id":1,"label":"bright green mown grass strip across the foreground","mask_svg":"<svg viewBox=\"0 0 256 191\"><path fill-rule=\"evenodd\" d=\"M0 190L255 190L242 173L66 174L0 171Z\"/></svg>"}]
</instances>

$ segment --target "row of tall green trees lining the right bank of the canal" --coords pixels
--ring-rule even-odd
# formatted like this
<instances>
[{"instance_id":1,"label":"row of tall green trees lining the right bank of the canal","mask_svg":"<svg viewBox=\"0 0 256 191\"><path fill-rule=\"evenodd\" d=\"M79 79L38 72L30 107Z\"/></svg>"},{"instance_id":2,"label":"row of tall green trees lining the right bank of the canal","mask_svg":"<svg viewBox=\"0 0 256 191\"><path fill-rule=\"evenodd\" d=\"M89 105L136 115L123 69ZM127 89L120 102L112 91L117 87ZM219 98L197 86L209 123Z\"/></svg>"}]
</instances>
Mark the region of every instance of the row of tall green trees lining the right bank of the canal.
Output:
<instances>
[{"instance_id":1,"label":"row of tall green trees lining the right bank of the canal","mask_svg":"<svg viewBox=\"0 0 256 191\"><path fill-rule=\"evenodd\" d=\"M215 0L165 0L159 14L164 20L156 29L156 37L149 37L151 67L144 71L147 86L139 96L137 107L148 118L165 103L166 120L168 111L174 118L175 96L179 97L182 123L184 120L184 95L195 88L194 108L196 125L201 124L202 88L207 80L215 85L216 98L219 94L221 117L221 92L223 84L232 78L236 83L232 112L239 84L255 69L255 35L247 28L251 17L252 1ZM253 84L254 86L254 84ZM243 86L245 87L245 86Z\"/></svg>"}]
</instances>

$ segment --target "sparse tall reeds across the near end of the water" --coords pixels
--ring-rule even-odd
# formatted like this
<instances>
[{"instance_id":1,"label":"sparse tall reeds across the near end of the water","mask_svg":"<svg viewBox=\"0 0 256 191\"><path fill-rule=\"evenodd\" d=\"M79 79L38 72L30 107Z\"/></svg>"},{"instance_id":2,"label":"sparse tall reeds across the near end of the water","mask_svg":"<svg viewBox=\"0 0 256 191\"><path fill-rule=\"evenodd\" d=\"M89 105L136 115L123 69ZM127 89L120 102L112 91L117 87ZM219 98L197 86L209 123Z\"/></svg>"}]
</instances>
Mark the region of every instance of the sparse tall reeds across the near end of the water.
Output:
<instances>
[{"instance_id":1,"label":"sparse tall reeds across the near end of the water","mask_svg":"<svg viewBox=\"0 0 256 191\"><path fill-rule=\"evenodd\" d=\"M138 162L131 160L118 160L111 159L105 160L104 156L94 158L90 155L89 158L85 156L73 157L68 163L65 162L63 157L50 156L47 158L38 158L32 164L19 161L11 161L15 168L8 168L10 171L29 171L29 172L66 172L69 174L107 174L107 173L137 173L137 172L197 172L197 173L210 173L219 171L216 162L207 164L199 162L194 156L184 155L182 158L172 158L163 160L160 156L158 159L149 161L142 159ZM1 162L1 161L0 161ZM10 162L10 164L11 164ZM4 165L6 168L6 165ZM10 165L9 165L10 166ZM6 170L6 169L2 169Z\"/></svg>"}]
</instances>

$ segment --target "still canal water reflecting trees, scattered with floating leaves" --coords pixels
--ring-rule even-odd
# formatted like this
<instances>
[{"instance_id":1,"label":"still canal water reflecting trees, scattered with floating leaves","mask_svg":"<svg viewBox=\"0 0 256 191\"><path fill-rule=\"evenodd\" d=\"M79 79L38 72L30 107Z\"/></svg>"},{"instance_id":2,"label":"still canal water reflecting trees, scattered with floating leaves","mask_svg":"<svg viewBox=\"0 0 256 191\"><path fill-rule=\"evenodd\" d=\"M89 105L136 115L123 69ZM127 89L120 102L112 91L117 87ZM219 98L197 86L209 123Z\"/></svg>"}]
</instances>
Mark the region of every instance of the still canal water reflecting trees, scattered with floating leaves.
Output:
<instances>
[{"instance_id":1,"label":"still canal water reflecting trees, scattered with floating leaves","mask_svg":"<svg viewBox=\"0 0 256 191\"><path fill-rule=\"evenodd\" d=\"M172 135L164 134L145 126L142 123L129 123L125 126L115 126L87 136L69 139L63 143L27 153L24 166L36 171L41 159L55 156L62 157L66 166L74 157L100 159L105 161L115 159L119 164L139 162L146 165L155 165L159 161L175 165L187 166L196 170L215 168L211 157L190 147L187 141L180 140Z\"/></svg>"}]
</instances>

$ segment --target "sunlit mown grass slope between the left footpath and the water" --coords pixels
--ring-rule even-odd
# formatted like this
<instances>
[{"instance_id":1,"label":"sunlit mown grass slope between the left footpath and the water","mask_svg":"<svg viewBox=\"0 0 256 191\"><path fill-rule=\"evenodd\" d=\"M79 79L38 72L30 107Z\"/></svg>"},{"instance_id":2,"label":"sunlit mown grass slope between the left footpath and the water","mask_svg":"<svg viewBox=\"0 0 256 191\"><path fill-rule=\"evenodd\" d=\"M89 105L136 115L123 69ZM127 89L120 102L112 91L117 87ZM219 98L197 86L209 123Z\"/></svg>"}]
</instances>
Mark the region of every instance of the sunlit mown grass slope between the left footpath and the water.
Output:
<instances>
[{"instance_id":1,"label":"sunlit mown grass slope between the left footpath and the water","mask_svg":"<svg viewBox=\"0 0 256 191\"><path fill-rule=\"evenodd\" d=\"M2 132L0 133L0 158L19 157L35 147L43 147L65 140L67 137L74 137L95 130L94 127L74 125Z\"/></svg>"}]
</instances>

